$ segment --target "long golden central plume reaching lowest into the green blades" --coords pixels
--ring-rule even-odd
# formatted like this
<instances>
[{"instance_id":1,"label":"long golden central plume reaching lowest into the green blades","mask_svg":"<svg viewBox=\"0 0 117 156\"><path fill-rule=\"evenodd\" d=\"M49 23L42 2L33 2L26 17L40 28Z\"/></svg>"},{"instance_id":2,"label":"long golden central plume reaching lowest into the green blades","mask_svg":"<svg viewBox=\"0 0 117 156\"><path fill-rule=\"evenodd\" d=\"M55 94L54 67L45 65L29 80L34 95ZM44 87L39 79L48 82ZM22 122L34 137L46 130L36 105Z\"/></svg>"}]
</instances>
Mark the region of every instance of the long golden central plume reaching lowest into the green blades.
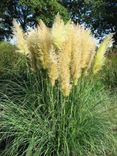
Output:
<instances>
[{"instance_id":1,"label":"long golden central plume reaching lowest into the green blades","mask_svg":"<svg viewBox=\"0 0 117 156\"><path fill-rule=\"evenodd\" d=\"M59 79L61 91L65 96L68 96L71 90L71 75L70 75L70 63L71 63L71 52L72 52L72 38L71 36L71 24L68 22L64 31L66 32L65 41L63 42L62 48L59 49Z\"/></svg>"}]
</instances>

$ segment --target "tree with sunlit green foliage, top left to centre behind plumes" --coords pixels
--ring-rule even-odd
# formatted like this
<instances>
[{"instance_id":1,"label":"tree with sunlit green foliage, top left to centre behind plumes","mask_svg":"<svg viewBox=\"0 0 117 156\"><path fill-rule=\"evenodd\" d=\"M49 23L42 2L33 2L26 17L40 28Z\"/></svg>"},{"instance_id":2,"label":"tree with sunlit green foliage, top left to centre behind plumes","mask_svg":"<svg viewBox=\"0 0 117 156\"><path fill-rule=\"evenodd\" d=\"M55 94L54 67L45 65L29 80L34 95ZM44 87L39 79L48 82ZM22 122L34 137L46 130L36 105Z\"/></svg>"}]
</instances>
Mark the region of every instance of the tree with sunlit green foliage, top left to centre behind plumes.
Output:
<instances>
[{"instance_id":1,"label":"tree with sunlit green foliage, top left to centre behind plumes","mask_svg":"<svg viewBox=\"0 0 117 156\"><path fill-rule=\"evenodd\" d=\"M1 40L11 36L13 18L21 24L24 31L35 26L39 19L51 26L58 12L64 20L68 19L67 9L59 0L1 0L0 6Z\"/></svg>"}]
</instances>

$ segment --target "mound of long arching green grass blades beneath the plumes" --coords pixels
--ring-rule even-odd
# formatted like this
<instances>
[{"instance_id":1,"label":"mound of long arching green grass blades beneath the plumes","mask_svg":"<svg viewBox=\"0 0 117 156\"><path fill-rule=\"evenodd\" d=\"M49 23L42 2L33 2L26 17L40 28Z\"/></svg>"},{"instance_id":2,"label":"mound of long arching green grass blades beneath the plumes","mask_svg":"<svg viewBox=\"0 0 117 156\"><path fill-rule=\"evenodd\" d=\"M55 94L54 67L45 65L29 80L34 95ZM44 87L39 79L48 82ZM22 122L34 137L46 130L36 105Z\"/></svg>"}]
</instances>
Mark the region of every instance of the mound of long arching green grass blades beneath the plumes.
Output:
<instances>
[{"instance_id":1,"label":"mound of long arching green grass blades beneath the plumes","mask_svg":"<svg viewBox=\"0 0 117 156\"><path fill-rule=\"evenodd\" d=\"M52 88L43 74L4 80L0 135L6 146L1 154L96 156L114 152L110 103L103 85L81 79L70 96L63 97L59 85Z\"/></svg>"}]
</instances>

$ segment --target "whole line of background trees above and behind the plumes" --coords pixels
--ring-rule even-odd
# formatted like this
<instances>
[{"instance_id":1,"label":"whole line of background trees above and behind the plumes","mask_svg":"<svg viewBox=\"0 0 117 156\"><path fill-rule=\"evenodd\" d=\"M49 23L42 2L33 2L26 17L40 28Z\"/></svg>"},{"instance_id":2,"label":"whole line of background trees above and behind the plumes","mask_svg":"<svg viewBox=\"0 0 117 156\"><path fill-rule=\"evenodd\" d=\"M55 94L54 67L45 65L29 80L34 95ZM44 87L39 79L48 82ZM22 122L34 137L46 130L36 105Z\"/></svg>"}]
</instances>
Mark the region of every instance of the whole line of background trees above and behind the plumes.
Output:
<instances>
[{"instance_id":1,"label":"whole line of background trees above and behind the plumes","mask_svg":"<svg viewBox=\"0 0 117 156\"><path fill-rule=\"evenodd\" d=\"M12 20L17 19L24 31L39 19L48 26L57 13L66 21L90 27L97 37L114 33L117 44L117 0L1 0L0 40L12 36Z\"/></svg>"}]
</instances>

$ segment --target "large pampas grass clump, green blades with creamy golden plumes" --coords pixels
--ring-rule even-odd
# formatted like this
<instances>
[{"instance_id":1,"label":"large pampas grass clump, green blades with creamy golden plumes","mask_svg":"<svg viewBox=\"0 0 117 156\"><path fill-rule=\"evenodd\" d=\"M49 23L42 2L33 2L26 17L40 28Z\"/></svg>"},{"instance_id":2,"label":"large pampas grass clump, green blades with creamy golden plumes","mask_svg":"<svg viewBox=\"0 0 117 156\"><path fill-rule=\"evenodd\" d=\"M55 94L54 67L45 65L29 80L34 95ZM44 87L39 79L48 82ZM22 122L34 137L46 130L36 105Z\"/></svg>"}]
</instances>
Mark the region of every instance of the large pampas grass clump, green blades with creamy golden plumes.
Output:
<instances>
[{"instance_id":1,"label":"large pampas grass clump, green blades with creamy golden plumes","mask_svg":"<svg viewBox=\"0 0 117 156\"><path fill-rule=\"evenodd\" d=\"M109 94L89 74L98 55L90 30L59 15L52 28L40 21L27 34L16 29L32 70L0 77L0 155L114 154Z\"/></svg>"}]
</instances>

